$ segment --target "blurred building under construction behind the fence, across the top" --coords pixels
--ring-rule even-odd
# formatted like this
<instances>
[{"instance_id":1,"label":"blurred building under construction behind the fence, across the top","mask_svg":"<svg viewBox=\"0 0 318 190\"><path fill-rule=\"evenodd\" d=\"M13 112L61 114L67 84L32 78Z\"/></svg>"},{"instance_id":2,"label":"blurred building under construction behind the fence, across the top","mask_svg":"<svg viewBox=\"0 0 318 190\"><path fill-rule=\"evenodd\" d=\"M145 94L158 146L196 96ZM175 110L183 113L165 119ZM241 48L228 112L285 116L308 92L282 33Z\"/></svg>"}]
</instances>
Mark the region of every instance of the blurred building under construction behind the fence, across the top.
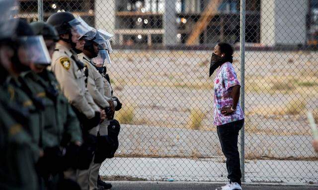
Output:
<instances>
[{"instance_id":1,"label":"blurred building under construction behind the fence, across the top","mask_svg":"<svg viewBox=\"0 0 318 190\"><path fill-rule=\"evenodd\" d=\"M37 18L37 1L20 0ZM71 11L123 46L212 46L239 41L239 0L44 0L44 19ZM295 14L297 12L297 14ZM247 43L317 45L318 0L246 0Z\"/></svg>"}]
</instances>

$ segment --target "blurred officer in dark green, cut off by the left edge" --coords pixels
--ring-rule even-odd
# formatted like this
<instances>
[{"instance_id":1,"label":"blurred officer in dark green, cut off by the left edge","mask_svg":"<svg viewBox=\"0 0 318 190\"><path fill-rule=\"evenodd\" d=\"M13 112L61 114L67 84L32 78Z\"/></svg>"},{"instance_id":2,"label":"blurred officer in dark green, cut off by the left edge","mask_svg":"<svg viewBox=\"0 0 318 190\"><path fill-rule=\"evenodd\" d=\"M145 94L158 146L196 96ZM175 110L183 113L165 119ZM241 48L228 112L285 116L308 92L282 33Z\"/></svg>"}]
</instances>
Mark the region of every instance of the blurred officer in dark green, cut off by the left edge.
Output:
<instances>
[{"instance_id":1,"label":"blurred officer in dark green, cut off by the left edge","mask_svg":"<svg viewBox=\"0 0 318 190\"><path fill-rule=\"evenodd\" d=\"M13 74L11 58L16 52L13 47L18 46L17 39L12 38L16 20L8 20L13 15L14 3L15 0L0 1L0 189L36 190L34 155L40 156L40 151L34 149L33 139L26 130L24 121L28 115L15 102L10 103L6 88L3 88L7 77Z\"/></svg>"}]
</instances>

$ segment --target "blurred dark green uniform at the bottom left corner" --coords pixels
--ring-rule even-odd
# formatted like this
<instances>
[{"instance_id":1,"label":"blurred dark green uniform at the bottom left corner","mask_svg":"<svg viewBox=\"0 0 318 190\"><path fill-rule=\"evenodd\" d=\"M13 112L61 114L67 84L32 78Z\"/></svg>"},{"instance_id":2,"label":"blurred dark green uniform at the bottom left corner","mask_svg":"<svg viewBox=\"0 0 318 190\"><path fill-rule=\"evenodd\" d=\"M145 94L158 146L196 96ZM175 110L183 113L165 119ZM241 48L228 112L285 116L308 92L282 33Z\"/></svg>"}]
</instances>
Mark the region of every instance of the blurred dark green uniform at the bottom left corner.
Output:
<instances>
[{"instance_id":1,"label":"blurred dark green uniform at the bottom left corner","mask_svg":"<svg viewBox=\"0 0 318 190\"><path fill-rule=\"evenodd\" d=\"M17 92L15 92L17 93ZM7 92L0 89L0 189L1 190L37 190L38 181L35 172L35 157L39 148L25 126L21 126L8 107L13 107ZM15 112L21 108L14 105Z\"/></svg>"}]
</instances>

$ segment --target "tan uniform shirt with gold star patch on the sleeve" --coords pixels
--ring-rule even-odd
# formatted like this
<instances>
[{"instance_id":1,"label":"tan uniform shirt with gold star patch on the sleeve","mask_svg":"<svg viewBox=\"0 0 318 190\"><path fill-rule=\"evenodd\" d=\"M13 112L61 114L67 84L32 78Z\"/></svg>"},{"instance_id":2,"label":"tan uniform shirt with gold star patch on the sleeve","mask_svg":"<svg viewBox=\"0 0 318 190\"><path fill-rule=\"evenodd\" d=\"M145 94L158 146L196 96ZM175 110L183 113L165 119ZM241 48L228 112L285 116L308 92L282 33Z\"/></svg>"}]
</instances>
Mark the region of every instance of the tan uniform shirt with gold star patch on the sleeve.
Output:
<instances>
[{"instance_id":1,"label":"tan uniform shirt with gold star patch on the sleeve","mask_svg":"<svg viewBox=\"0 0 318 190\"><path fill-rule=\"evenodd\" d=\"M95 111L99 109L85 87L83 70L80 70L71 58L72 51L68 47L57 44L56 48L58 50L53 53L51 69L60 83L62 92L88 119L93 118Z\"/></svg>"}]
</instances>

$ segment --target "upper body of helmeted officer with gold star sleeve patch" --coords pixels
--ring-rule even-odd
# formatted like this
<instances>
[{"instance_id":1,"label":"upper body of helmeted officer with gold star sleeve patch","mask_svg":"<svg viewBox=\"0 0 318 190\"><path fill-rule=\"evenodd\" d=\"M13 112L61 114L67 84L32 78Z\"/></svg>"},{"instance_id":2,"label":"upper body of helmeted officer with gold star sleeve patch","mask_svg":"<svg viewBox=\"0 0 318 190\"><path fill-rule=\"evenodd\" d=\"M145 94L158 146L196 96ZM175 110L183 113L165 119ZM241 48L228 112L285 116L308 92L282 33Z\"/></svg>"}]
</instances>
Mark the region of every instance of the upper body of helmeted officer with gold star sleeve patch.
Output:
<instances>
[{"instance_id":1,"label":"upper body of helmeted officer with gold star sleeve patch","mask_svg":"<svg viewBox=\"0 0 318 190\"><path fill-rule=\"evenodd\" d=\"M96 109L97 106L85 87L84 66L72 50L81 37L79 33L81 31L77 28L80 23L76 23L74 20L76 18L69 12L54 13L47 20L48 24L55 27L60 37L56 45L56 51L52 56L51 69L71 105L82 114L82 117L90 119L94 127L100 121L100 112L98 108Z\"/></svg>"}]
</instances>

